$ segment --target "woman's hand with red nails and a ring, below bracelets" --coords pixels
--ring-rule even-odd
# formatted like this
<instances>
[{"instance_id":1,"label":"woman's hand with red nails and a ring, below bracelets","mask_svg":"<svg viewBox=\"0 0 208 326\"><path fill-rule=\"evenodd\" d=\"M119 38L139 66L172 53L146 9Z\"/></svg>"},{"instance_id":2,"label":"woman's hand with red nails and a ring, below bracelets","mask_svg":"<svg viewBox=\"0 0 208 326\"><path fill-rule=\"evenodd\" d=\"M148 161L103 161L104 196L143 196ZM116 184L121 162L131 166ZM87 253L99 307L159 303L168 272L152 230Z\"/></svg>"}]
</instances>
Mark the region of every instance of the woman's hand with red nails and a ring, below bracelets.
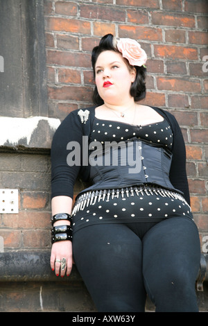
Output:
<instances>
[{"instance_id":1,"label":"woman's hand with red nails and a ring, below bracelets","mask_svg":"<svg viewBox=\"0 0 208 326\"><path fill-rule=\"evenodd\" d=\"M66 258L66 267L62 271L61 268L61 260L62 258ZM58 260L58 261L55 261ZM55 271L55 275L60 275L64 277L65 273L67 276L70 275L71 269L73 265L73 256L72 256L72 243L71 241L58 241L53 243L51 249L51 269Z\"/></svg>"}]
</instances>

